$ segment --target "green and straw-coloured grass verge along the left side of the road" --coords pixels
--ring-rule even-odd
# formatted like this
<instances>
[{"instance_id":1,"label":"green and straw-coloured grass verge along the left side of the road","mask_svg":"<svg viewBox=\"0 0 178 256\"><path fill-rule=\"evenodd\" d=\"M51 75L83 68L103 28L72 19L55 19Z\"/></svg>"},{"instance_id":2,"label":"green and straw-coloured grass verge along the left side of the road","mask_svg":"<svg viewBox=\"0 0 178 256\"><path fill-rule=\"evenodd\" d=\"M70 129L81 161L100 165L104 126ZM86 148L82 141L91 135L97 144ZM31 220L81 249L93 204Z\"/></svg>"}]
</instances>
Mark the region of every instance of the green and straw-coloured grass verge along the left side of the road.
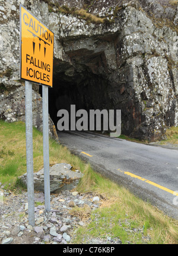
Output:
<instances>
[{"instance_id":1,"label":"green and straw-coloured grass verge along the left side of the road","mask_svg":"<svg viewBox=\"0 0 178 256\"><path fill-rule=\"evenodd\" d=\"M17 189L17 177L26 173L25 130L22 122L5 123L0 120L0 182L9 190ZM50 164L65 162L82 171L84 177L77 187L79 193L92 193L101 198L97 210L91 211L87 205L72 208L71 214L82 218L86 225L76 227L71 243L87 243L89 238L107 239L107 236L118 238L122 243L178 242L177 220L164 216L148 202L94 172L90 164L84 163L52 139L49 141L49 152ZM34 171L38 171L43 167L43 136L35 128L33 153ZM150 239L144 241L143 236Z\"/></svg>"}]
</instances>

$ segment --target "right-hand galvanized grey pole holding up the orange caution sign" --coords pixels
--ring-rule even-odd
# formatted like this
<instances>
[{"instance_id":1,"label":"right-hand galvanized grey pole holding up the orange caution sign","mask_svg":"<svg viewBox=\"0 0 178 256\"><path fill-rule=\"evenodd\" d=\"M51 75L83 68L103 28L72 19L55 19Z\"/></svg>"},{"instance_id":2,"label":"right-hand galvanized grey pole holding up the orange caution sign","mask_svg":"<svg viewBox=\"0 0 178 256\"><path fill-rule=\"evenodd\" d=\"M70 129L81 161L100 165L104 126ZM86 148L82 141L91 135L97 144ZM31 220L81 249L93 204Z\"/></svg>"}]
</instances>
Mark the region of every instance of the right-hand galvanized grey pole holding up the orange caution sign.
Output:
<instances>
[{"instance_id":1,"label":"right-hand galvanized grey pole holding up the orange caution sign","mask_svg":"<svg viewBox=\"0 0 178 256\"><path fill-rule=\"evenodd\" d=\"M45 186L45 209L50 211L50 177L49 177L49 115L48 115L48 87L42 86L43 96L43 163Z\"/></svg>"}]
</instances>

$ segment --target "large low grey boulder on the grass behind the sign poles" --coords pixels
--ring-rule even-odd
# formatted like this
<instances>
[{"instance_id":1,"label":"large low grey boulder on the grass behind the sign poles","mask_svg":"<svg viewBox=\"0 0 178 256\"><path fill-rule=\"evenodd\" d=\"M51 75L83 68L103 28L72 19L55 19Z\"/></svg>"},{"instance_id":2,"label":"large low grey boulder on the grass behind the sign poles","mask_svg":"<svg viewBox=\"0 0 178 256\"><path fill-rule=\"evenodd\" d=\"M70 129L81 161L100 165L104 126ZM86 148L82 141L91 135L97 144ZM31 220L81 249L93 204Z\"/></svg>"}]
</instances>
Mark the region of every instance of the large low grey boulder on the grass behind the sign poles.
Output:
<instances>
[{"instance_id":1,"label":"large low grey boulder on the grass behind the sign poles","mask_svg":"<svg viewBox=\"0 0 178 256\"><path fill-rule=\"evenodd\" d=\"M71 170L70 164L54 164L50 167L50 192L71 190L77 186L82 173L78 170ZM27 187L27 173L19 177L20 182ZM44 169L34 173L34 189L44 192Z\"/></svg>"}]
</instances>

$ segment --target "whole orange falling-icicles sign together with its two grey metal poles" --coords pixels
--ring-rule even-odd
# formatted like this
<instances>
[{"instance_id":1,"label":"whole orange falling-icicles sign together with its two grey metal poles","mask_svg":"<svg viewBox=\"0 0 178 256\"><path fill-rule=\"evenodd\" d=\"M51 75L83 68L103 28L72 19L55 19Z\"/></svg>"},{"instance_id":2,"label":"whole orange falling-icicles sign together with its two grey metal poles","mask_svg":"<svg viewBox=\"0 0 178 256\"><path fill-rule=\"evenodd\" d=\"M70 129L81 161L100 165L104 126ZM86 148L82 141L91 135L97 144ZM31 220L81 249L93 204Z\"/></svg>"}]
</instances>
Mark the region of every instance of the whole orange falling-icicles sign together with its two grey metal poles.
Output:
<instances>
[{"instance_id":1,"label":"whole orange falling-icicles sign together with its two grey metal poles","mask_svg":"<svg viewBox=\"0 0 178 256\"><path fill-rule=\"evenodd\" d=\"M28 222L34 226L33 123L31 82L43 86L45 208L50 211L48 87L53 84L54 33L20 4L20 79L26 82ZM29 82L27 82L29 81Z\"/></svg>"}]
</instances>

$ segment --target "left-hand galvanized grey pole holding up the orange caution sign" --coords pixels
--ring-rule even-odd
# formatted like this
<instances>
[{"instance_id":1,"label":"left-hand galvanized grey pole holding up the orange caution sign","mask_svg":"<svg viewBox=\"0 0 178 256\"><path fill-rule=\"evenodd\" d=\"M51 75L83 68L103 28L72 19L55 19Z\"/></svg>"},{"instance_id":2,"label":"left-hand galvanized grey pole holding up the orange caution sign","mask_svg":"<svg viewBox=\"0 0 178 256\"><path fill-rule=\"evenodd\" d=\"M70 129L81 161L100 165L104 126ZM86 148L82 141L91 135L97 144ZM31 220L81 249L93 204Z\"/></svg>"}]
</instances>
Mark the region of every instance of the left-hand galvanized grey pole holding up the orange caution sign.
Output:
<instances>
[{"instance_id":1,"label":"left-hand galvanized grey pole holding up the orange caution sign","mask_svg":"<svg viewBox=\"0 0 178 256\"><path fill-rule=\"evenodd\" d=\"M34 226L34 181L33 181L33 121L32 121L32 84L26 85L26 157L27 157L27 193L28 223Z\"/></svg>"}]
</instances>

